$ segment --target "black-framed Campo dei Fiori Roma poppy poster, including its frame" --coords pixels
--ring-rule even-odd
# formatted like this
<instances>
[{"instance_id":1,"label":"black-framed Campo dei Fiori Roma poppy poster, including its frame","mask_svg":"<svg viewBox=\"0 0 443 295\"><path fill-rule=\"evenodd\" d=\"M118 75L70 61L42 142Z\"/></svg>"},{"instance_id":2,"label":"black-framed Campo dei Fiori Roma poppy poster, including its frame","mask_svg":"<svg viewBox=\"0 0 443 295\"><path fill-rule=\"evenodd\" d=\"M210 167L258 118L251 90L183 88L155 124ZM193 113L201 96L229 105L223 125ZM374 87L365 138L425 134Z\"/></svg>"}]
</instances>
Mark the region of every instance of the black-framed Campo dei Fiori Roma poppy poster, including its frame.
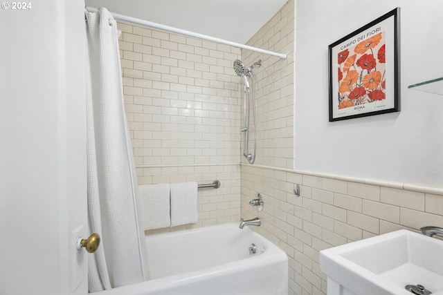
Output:
<instances>
[{"instance_id":1,"label":"black-framed Campo dei Fiori Roma poppy poster, including its frame","mask_svg":"<svg viewBox=\"0 0 443 295\"><path fill-rule=\"evenodd\" d=\"M400 111L400 8L329 45L329 122Z\"/></svg>"}]
</instances>

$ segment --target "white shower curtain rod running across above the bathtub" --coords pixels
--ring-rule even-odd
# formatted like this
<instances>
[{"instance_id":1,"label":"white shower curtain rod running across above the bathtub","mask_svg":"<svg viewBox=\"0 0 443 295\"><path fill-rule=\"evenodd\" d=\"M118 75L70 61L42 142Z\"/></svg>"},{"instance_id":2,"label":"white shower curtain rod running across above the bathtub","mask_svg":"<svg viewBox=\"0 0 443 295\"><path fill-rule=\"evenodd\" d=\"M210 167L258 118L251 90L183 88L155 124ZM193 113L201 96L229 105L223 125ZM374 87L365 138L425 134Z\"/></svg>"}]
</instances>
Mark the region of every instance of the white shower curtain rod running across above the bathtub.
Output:
<instances>
[{"instance_id":1,"label":"white shower curtain rod running across above the bathtub","mask_svg":"<svg viewBox=\"0 0 443 295\"><path fill-rule=\"evenodd\" d=\"M90 12L96 12L97 9L96 8L91 8L91 7L87 7L86 8L88 11ZM239 44L239 43L235 43L235 42L231 42L228 40L224 40L224 39L220 39L220 38L216 38L216 37L211 37L208 35L203 35L203 34L199 34L197 32L191 32L189 30L182 30L180 28L174 28L171 26L165 26L162 25L161 23L153 23L152 21L145 21L143 19L136 19L134 17L128 17L127 15L119 15L118 13L113 13L111 12L111 15L114 17L114 19L117 19L119 21L125 21L128 23L134 23L134 24L138 24L141 26L146 26L149 28L156 28L159 30L164 30L167 32L174 32L176 34L179 35L185 35L185 36L190 36L190 37L195 37L198 39L204 39L204 40L208 40L208 41L213 41L215 43L219 43L219 44L226 44L226 45L230 45L233 47L237 47L237 48L242 48L242 49L246 49L246 50L252 50L252 51L256 51L257 53L264 53L266 55L273 55L275 57L280 57L281 59L286 59L287 55L284 55L282 53L274 53L273 51L269 51L269 50L264 50L262 48L256 48L253 46L248 46L248 45L244 45L244 44Z\"/></svg>"}]
</instances>

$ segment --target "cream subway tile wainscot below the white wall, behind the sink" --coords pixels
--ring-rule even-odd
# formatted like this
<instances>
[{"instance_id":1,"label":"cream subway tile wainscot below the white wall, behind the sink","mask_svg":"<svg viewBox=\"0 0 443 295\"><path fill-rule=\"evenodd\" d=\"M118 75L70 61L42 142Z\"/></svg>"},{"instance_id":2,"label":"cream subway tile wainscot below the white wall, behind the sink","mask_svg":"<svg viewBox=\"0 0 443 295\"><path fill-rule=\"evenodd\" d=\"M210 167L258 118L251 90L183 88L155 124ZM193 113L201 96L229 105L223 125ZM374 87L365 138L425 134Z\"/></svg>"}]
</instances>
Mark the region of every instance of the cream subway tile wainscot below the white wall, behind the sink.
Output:
<instances>
[{"instance_id":1,"label":"cream subway tile wainscot below the white wall, behind the sink","mask_svg":"<svg viewBox=\"0 0 443 295\"><path fill-rule=\"evenodd\" d=\"M318 260L323 249L397 229L442 226L443 195L433 191L242 165L242 216L260 217L262 226L253 229L287 253L291 295L326 294ZM257 192L261 212L248 204Z\"/></svg>"}]
</instances>

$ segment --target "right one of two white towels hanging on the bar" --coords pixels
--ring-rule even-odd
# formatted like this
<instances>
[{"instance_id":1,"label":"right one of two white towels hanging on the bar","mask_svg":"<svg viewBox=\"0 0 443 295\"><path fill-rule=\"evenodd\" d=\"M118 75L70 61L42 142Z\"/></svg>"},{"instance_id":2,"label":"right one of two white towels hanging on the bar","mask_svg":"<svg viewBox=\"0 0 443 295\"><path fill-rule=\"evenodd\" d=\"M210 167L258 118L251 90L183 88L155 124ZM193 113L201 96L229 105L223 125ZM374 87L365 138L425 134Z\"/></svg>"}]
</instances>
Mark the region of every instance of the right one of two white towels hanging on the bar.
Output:
<instances>
[{"instance_id":1,"label":"right one of two white towels hanging on the bar","mask_svg":"<svg viewBox=\"0 0 443 295\"><path fill-rule=\"evenodd\" d=\"M171 227L196 223L197 182L171 184Z\"/></svg>"}]
</instances>

